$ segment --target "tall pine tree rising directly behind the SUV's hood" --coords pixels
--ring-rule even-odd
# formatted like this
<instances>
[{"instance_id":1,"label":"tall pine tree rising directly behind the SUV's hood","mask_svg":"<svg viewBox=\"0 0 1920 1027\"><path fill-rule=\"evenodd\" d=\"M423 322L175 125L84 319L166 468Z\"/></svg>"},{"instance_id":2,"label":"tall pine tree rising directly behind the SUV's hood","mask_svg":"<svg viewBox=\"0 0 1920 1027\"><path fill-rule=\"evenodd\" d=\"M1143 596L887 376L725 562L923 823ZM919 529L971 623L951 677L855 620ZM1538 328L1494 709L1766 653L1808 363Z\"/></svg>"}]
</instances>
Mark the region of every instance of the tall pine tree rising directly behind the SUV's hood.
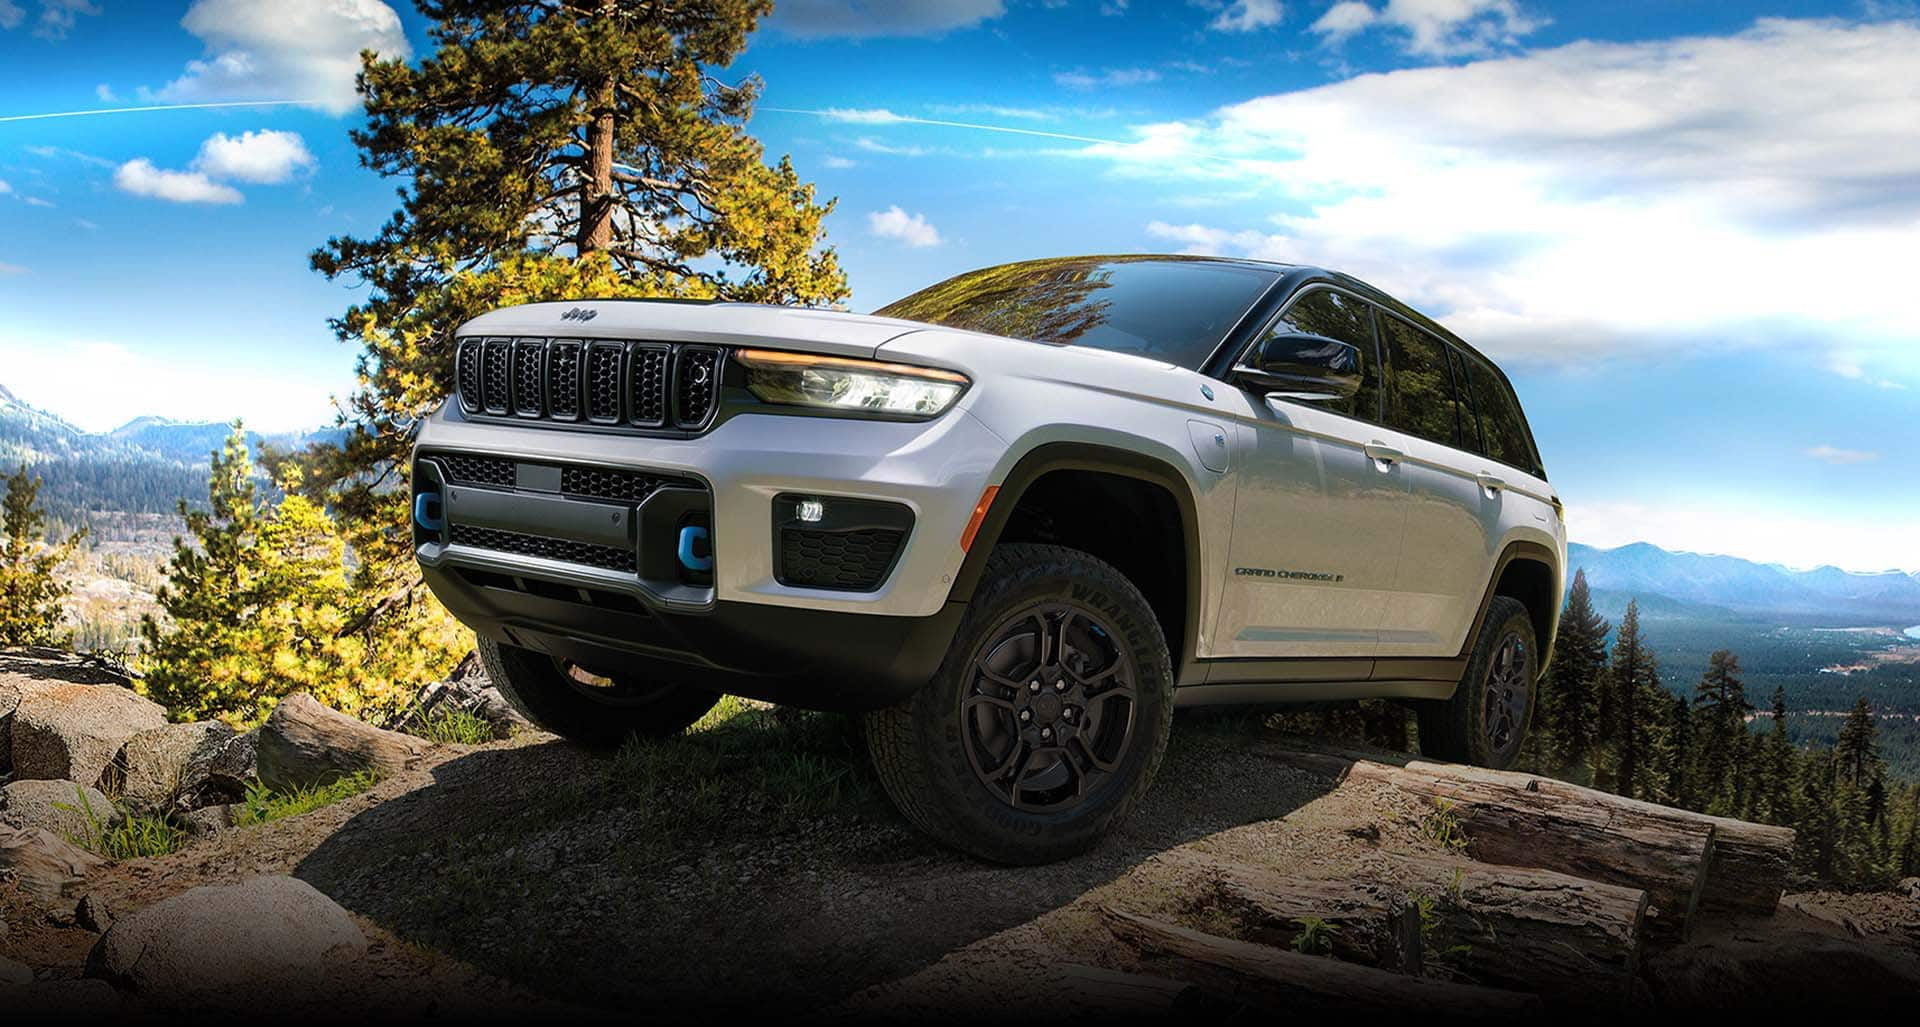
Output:
<instances>
[{"instance_id":1,"label":"tall pine tree rising directly behind the SUV's hood","mask_svg":"<svg viewBox=\"0 0 1920 1027\"><path fill-rule=\"evenodd\" d=\"M413 566L413 424L449 392L453 328L499 305L584 298L833 303L847 278L791 161L745 125L760 83L724 83L770 0L422 0L434 54L363 60L361 161L399 179L378 232L311 257L367 288L334 330L363 388L338 447L301 455L355 559L344 632L445 670L463 637Z\"/></svg>"}]
</instances>

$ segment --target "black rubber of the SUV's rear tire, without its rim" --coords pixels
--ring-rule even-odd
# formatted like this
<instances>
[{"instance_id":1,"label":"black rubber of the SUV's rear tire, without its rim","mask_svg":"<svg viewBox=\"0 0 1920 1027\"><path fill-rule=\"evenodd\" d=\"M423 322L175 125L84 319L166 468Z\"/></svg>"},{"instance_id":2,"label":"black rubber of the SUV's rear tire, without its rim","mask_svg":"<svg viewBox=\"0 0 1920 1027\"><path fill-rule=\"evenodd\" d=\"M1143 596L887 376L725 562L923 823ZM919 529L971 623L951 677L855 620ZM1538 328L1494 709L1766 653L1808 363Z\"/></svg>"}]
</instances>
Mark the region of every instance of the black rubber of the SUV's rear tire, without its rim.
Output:
<instances>
[{"instance_id":1,"label":"black rubber of the SUV's rear tire, without its rim","mask_svg":"<svg viewBox=\"0 0 1920 1027\"><path fill-rule=\"evenodd\" d=\"M1524 689L1524 710L1517 718L1509 716L1513 741L1496 747L1488 728L1488 706L1496 701L1488 676L1501 645L1509 639L1521 645L1519 687ZM1496 595L1486 607L1486 620L1480 624L1480 635L1473 643L1467 672L1453 697L1417 705L1421 752L1440 760L1507 770L1519 758L1526 728L1540 705L1538 676L1540 651L1532 616L1519 599Z\"/></svg>"}]
</instances>

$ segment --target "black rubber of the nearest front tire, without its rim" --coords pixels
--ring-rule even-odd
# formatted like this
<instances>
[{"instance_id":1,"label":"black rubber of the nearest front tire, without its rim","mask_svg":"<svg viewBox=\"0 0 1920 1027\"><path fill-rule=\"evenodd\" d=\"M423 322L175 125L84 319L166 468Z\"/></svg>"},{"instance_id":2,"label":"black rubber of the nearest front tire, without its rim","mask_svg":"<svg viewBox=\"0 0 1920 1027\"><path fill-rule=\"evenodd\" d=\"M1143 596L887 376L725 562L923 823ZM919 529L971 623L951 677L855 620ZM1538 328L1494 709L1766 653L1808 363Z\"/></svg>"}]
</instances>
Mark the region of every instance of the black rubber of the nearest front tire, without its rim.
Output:
<instances>
[{"instance_id":1,"label":"black rubber of the nearest front tire, without its rim","mask_svg":"<svg viewBox=\"0 0 1920 1027\"><path fill-rule=\"evenodd\" d=\"M1020 810L989 791L962 737L962 701L975 658L1008 618L1048 605L1085 607L1131 655L1133 722L1106 772L1071 808ZM1160 622L1140 589L1112 564L1060 545L1000 545L933 680L908 701L866 714L874 770L900 812L935 839L1002 864L1043 864L1092 847L1152 785L1173 724L1173 666ZM1018 779L1014 783L1018 791Z\"/></svg>"}]
</instances>

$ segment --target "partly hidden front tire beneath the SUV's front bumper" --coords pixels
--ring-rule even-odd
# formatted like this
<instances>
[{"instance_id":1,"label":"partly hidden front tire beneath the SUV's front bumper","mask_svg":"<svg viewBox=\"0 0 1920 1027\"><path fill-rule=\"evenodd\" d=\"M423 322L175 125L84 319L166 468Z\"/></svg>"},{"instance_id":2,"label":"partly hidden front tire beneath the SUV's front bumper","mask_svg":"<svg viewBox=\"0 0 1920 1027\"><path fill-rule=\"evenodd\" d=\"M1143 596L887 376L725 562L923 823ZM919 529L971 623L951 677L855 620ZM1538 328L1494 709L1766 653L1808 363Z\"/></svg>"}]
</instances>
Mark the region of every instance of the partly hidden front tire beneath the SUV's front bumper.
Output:
<instances>
[{"instance_id":1,"label":"partly hidden front tire beneath the SUV's front bumper","mask_svg":"<svg viewBox=\"0 0 1920 1027\"><path fill-rule=\"evenodd\" d=\"M720 703L710 691L601 678L545 653L478 641L488 678L520 716L589 749L614 749L634 735L676 735Z\"/></svg>"}]
</instances>

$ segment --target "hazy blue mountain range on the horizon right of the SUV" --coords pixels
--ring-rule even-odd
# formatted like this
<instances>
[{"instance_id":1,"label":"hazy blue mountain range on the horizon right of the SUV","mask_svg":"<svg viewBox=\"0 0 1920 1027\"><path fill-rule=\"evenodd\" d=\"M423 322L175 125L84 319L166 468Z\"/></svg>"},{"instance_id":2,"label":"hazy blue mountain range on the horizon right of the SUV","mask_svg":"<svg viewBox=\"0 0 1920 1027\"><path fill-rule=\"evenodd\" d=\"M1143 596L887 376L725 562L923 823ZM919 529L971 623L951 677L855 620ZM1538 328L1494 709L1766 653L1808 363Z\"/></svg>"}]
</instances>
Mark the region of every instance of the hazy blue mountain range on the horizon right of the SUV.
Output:
<instances>
[{"instance_id":1,"label":"hazy blue mountain range on the horizon right of the SUV","mask_svg":"<svg viewBox=\"0 0 1920 1027\"><path fill-rule=\"evenodd\" d=\"M1567 564L1586 570L1594 603L1609 616L1636 597L1647 618L1791 618L1832 628L1920 624L1920 574L1899 570L1788 570L1738 557L1670 553L1645 541L1619 549L1572 543Z\"/></svg>"}]
</instances>

